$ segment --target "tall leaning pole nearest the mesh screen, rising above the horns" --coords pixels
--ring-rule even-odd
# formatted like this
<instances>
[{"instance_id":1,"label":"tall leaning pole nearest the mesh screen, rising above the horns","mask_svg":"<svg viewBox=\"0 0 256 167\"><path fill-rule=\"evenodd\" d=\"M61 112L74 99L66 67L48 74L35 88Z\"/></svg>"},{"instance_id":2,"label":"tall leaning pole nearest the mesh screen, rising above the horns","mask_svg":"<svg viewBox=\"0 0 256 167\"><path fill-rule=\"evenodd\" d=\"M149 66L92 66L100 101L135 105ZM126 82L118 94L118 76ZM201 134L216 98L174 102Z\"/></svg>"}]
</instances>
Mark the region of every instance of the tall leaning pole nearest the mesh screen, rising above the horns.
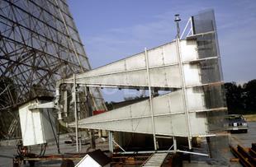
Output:
<instances>
[{"instance_id":1,"label":"tall leaning pole nearest the mesh screen, rising above the horns","mask_svg":"<svg viewBox=\"0 0 256 167\"><path fill-rule=\"evenodd\" d=\"M180 19L178 21L180 21ZM183 60L182 60L180 44L179 44L180 38L179 38L178 21L176 21L177 29L178 29L177 36L176 36L176 50L177 50L177 54L178 54L179 72L182 77L183 101L184 101L185 118L186 118L186 124L187 124L187 141L188 141L189 149L192 149L190 119L189 119L189 113L188 113L189 111L188 111L188 106L187 106L187 90L186 90L186 82L185 82L185 77L184 77Z\"/></svg>"}]
</instances>

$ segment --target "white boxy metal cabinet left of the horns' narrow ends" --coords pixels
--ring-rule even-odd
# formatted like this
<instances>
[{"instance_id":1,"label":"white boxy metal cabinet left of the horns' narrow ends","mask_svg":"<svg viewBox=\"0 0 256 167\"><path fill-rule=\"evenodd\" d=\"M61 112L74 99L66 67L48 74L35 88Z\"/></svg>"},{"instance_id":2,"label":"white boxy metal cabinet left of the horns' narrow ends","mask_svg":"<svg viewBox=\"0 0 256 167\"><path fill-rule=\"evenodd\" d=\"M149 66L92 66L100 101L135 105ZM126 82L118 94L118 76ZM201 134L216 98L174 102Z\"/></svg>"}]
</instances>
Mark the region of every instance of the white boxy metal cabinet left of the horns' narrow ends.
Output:
<instances>
[{"instance_id":1,"label":"white boxy metal cabinet left of the horns' narrow ends","mask_svg":"<svg viewBox=\"0 0 256 167\"><path fill-rule=\"evenodd\" d=\"M19 107L23 146L43 144L55 139L56 125L52 109L31 109L31 106L38 104L41 104L40 100L31 100Z\"/></svg>"}]
</instances>

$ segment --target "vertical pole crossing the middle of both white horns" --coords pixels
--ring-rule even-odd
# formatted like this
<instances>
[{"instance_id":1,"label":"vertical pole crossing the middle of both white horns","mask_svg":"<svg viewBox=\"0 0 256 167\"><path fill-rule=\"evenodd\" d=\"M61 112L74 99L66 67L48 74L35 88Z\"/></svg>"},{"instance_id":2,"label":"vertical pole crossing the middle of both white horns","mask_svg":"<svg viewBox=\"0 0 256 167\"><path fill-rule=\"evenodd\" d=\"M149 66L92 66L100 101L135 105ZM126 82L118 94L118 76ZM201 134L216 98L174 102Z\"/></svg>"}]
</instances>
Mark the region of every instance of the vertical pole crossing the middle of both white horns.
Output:
<instances>
[{"instance_id":1,"label":"vertical pole crossing the middle of both white horns","mask_svg":"<svg viewBox=\"0 0 256 167\"><path fill-rule=\"evenodd\" d=\"M151 93L151 85L150 85L150 77L149 77L149 58L148 52L145 48L145 60L146 60L146 67L147 67L147 76L149 82L149 105L150 105L150 113L151 113L151 123L152 123L152 130L153 130L153 138L154 138L154 150L157 150L156 144L156 137L155 137L155 128L154 128L154 111L153 111L153 104L152 104L152 93Z\"/></svg>"}]
</instances>

